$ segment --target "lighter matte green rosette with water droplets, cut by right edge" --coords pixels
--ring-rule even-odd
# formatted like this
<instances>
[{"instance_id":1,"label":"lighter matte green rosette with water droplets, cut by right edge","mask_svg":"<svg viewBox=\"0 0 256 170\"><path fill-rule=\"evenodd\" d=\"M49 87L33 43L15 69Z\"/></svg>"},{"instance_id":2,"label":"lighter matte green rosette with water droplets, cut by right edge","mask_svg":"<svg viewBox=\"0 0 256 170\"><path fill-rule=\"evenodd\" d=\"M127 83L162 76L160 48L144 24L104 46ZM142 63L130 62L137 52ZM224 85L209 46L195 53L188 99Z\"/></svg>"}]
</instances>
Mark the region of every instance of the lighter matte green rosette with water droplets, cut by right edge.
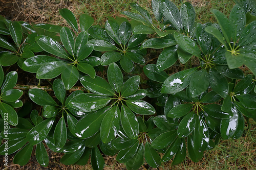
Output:
<instances>
[{"instance_id":1,"label":"lighter matte green rosette with water droplets, cut by right edge","mask_svg":"<svg viewBox=\"0 0 256 170\"><path fill-rule=\"evenodd\" d=\"M236 4L227 18L222 12L212 10L219 29L208 26L205 31L214 35L225 46L225 58L229 68L246 65L256 75L256 21L246 26L246 13Z\"/></svg>"}]
</instances>

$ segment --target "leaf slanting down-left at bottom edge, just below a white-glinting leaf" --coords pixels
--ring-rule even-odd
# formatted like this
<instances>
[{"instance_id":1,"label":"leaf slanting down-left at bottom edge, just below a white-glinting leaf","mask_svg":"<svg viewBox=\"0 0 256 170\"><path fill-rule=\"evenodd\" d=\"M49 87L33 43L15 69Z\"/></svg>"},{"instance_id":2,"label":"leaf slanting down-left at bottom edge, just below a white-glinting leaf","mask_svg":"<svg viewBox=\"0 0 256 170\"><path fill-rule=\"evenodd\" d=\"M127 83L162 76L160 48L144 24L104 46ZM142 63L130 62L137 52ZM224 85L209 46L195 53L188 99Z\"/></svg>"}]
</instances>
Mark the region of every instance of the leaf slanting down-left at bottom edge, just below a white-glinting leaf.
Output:
<instances>
[{"instance_id":1,"label":"leaf slanting down-left at bottom edge, just below a white-glinting leaf","mask_svg":"<svg viewBox=\"0 0 256 170\"><path fill-rule=\"evenodd\" d=\"M83 146L79 150L77 150L76 152L65 154L60 159L60 162L65 164L65 165L75 164L81 158L85 148L86 147Z\"/></svg>"}]
</instances>

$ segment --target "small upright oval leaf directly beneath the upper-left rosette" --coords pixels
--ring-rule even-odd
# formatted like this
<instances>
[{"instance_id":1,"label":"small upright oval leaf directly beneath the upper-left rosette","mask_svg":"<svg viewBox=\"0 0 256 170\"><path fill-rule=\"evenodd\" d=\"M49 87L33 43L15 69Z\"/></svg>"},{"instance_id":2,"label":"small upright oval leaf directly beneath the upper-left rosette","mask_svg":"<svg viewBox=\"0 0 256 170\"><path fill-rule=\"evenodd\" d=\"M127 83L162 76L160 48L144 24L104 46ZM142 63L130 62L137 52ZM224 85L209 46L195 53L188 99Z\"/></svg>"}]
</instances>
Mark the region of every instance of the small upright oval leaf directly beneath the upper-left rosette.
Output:
<instances>
[{"instance_id":1,"label":"small upright oval leaf directly beneath the upper-left rosette","mask_svg":"<svg viewBox=\"0 0 256 170\"><path fill-rule=\"evenodd\" d=\"M66 89L65 89L63 82L60 79L55 79L53 81L52 87L53 87L54 95L56 96L56 98L62 104L64 104L64 100L65 100L65 96L66 96Z\"/></svg>"}]
</instances>

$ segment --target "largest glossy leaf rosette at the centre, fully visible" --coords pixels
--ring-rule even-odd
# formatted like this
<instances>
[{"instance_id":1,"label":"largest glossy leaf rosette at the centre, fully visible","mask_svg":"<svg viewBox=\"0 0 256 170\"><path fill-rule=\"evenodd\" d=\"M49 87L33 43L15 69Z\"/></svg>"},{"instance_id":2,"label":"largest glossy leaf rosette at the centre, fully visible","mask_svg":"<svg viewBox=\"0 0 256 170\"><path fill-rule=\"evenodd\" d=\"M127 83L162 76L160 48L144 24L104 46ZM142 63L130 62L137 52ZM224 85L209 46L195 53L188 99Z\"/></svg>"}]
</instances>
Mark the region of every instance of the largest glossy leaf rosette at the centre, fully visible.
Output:
<instances>
[{"instance_id":1,"label":"largest glossy leaf rosette at the centre, fully visible","mask_svg":"<svg viewBox=\"0 0 256 170\"><path fill-rule=\"evenodd\" d=\"M125 134L135 139L139 134L139 123L134 113L153 115L155 109L141 100L146 96L146 90L138 89L139 76L123 83L120 68L112 63L108 68L108 81L98 76L95 79L89 76L80 78L82 85L93 93L79 94L69 102L71 108L89 112L76 124L76 135L89 138L99 131L101 141L108 143L117 136L121 123ZM111 105L106 106L109 103Z\"/></svg>"}]
</instances>

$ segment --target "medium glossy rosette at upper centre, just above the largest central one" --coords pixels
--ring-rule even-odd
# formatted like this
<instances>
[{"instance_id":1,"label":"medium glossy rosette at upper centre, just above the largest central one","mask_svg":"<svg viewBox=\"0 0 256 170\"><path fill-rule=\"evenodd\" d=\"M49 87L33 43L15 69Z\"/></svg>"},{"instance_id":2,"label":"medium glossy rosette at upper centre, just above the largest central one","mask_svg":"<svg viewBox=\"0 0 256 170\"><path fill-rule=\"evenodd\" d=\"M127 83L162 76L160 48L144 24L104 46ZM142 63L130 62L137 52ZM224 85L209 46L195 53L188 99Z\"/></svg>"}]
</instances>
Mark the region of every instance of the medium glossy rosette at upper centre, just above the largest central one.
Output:
<instances>
[{"instance_id":1,"label":"medium glossy rosette at upper centre, just above the largest central one","mask_svg":"<svg viewBox=\"0 0 256 170\"><path fill-rule=\"evenodd\" d=\"M134 62L145 64L145 54L139 50L139 45L145 40L146 34L132 35L132 26L128 21L118 25L114 19L109 19L105 23L105 30L92 27L88 32L95 38L89 41L93 44L94 50L105 52L100 59L101 65L119 61L125 72L131 72L134 69Z\"/></svg>"}]
</instances>

